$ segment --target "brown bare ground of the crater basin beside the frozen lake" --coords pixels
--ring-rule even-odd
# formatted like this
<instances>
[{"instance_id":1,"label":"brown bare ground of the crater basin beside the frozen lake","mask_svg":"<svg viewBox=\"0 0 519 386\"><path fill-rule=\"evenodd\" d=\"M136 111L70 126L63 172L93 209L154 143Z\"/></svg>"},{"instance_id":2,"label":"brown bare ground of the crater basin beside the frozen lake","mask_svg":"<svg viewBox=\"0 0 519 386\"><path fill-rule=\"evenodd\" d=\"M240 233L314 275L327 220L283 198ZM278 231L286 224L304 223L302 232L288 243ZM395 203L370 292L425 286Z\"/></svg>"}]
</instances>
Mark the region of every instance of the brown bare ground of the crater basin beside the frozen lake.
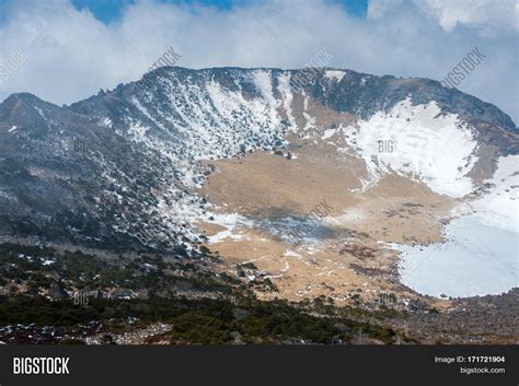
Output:
<instances>
[{"instance_id":1,"label":"brown bare ground of the crater basin beside the frozen lake","mask_svg":"<svg viewBox=\"0 0 519 386\"><path fill-rule=\"evenodd\" d=\"M344 149L344 148L343 148ZM292 159L267 152L212 162L219 169L200 194L221 213L238 213L254 221L308 215L318 203L333 208L320 221L334 237L297 245L262 229L239 225L233 237L207 247L223 262L219 269L256 285L261 299L302 301L318 296L338 305L351 304L355 294L376 300L395 293L399 300L418 295L399 282L397 255L387 243L427 244L441 239L454 201L423 184L395 174L361 192L362 161L327 142L292 141ZM200 223L207 236L222 231ZM427 297L438 308L448 301Z\"/></svg>"}]
</instances>

